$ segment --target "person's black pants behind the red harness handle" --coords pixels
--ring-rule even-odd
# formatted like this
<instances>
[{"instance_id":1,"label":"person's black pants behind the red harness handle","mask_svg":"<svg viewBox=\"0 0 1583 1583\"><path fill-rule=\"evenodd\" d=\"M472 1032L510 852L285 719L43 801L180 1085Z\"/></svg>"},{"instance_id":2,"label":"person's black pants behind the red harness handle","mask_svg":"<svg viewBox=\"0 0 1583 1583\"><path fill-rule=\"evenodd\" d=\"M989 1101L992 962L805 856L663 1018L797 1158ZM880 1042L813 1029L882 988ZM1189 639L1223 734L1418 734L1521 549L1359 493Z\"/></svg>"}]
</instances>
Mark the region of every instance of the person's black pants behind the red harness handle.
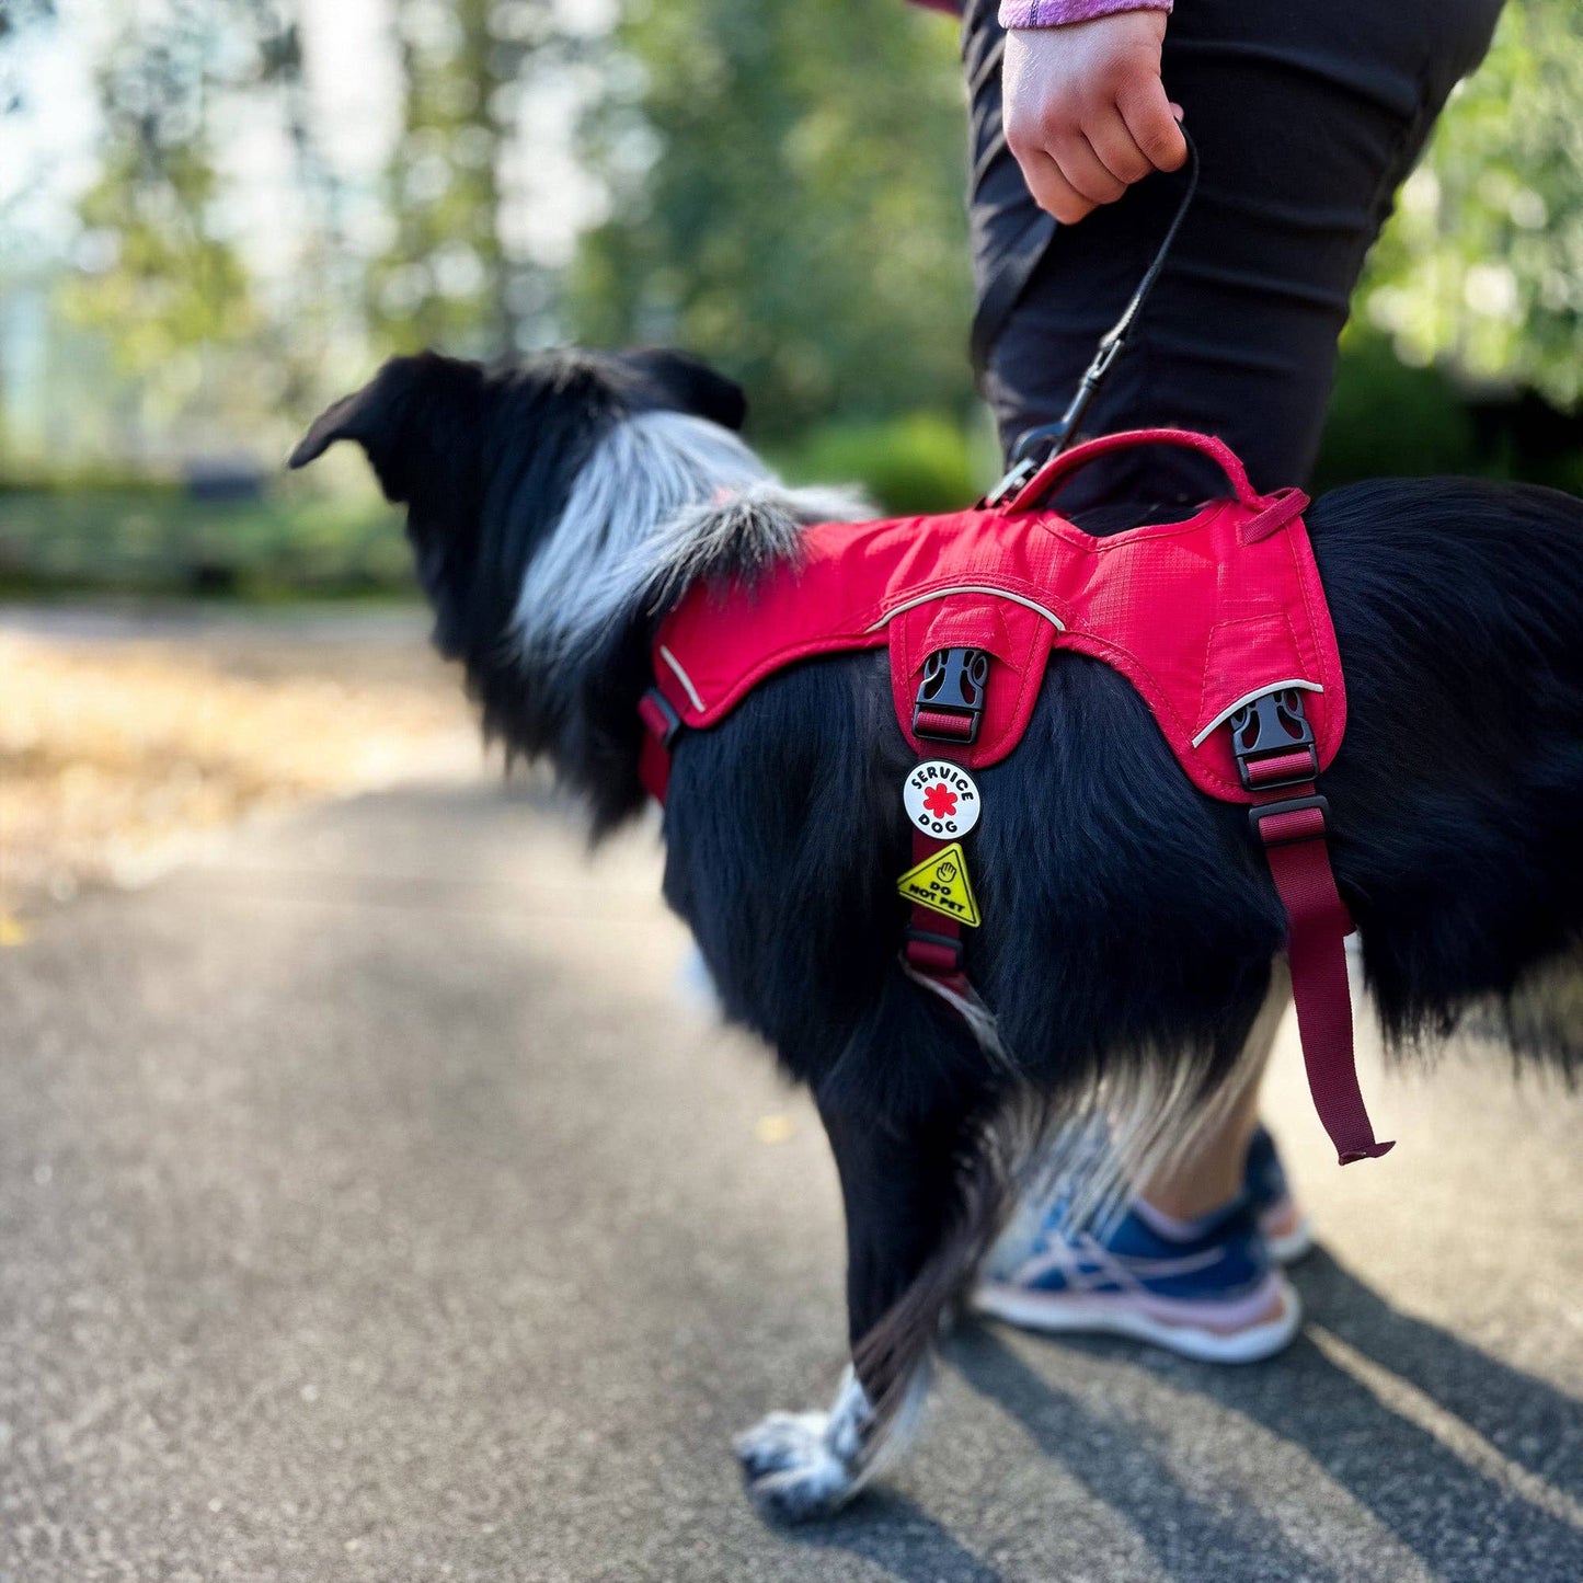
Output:
<instances>
[{"instance_id":1,"label":"person's black pants behind the red harness handle","mask_svg":"<svg viewBox=\"0 0 1583 1583\"><path fill-rule=\"evenodd\" d=\"M1154 424L1227 440L1260 489L1314 464L1336 337L1363 256L1501 0L1181 0L1167 92L1198 144L1198 198L1084 431ZM1000 127L996 0L969 0L975 359L1004 445L1065 408L1170 223L1183 173L1081 225L1029 196ZM1213 469L1151 448L1080 473L1062 508L1187 502Z\"/></svg>"}]
</instances>

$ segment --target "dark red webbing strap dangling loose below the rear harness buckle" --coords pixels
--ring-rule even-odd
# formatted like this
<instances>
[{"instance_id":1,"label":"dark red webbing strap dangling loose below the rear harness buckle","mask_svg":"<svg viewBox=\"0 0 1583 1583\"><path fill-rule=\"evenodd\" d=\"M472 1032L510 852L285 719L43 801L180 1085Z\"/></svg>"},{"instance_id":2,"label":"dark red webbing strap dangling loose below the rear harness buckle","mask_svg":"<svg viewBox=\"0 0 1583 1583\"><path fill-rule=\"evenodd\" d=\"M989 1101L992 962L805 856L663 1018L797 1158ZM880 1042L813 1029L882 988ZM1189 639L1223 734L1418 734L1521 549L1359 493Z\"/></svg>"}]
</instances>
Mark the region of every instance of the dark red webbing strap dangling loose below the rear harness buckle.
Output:
<instances>
[{"instance_id":1,"label":"dark red webbing strap dangling loose below the rear harness buckle","mask_svg":"<svg viewBox=\"0 0 1583 1583\"><path fill-rule=\"evenodd\" d=\"M1312 795L1314 784L1309 780L1271 793L1271 801L1303 801ZM1325 809L1309 806L1260 814L1255 807L1254 823L1265 844L1276 894L1287 913L1292 999L1296 1002L1303 1065L1308 1069L1314 1110L1319 1111L1342 1165L1379 1159L1396 1145L1374 1140L1374 1127L1358 1088L1346 947L1352 920L1330 867Z\"/></svg>"}]
</instances>

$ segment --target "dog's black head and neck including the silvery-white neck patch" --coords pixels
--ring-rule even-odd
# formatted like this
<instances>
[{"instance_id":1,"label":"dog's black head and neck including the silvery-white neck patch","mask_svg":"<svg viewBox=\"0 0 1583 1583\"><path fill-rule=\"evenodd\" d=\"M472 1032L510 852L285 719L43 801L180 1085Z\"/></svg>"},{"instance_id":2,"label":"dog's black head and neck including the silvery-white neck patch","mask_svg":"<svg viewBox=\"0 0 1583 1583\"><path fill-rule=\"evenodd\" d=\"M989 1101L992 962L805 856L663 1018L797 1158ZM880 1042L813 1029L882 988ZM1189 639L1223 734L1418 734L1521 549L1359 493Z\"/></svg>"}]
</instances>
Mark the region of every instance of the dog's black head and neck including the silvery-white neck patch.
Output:
<instances>
[{"instance_id":1,"label":"dog's black head and neck including the silvery-white neck patch","mask_svg":"<svg viewBox=\"0 0 1583 1583\"><path fill-rule=\"evenodd\" d=\"M641 806L657 530L765 476L744 416L736 385L676 351L497 369L423 353L328 408L291 465L363 446L407 508L435 646L465 665L486 735L549 754L606 829Z\"/></svg>"}]
</instances>

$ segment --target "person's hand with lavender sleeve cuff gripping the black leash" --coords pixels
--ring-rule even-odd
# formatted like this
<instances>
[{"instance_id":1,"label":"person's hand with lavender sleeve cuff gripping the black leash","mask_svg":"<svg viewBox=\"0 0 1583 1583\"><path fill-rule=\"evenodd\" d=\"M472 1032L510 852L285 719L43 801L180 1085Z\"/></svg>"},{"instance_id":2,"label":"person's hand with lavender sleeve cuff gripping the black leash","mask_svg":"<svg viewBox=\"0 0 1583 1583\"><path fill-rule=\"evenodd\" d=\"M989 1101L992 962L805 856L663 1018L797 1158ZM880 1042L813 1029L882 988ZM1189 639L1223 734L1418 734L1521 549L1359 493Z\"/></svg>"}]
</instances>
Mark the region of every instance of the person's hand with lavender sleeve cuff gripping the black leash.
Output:
<instances>
[{"instance_id":1,"label":"person's hand with lavender sleeve cuff gripping the black leash","mask_svg":"<svg viewBox=\"0 0 1583 1583\"><path fill-rule=\"evenodd\" d=\"M1187 158L1160 82L1164 11L1116 11L1007 35L1005 141L1040 209L1076 225L1151 171Z\"/></svg>"}]
</instances>

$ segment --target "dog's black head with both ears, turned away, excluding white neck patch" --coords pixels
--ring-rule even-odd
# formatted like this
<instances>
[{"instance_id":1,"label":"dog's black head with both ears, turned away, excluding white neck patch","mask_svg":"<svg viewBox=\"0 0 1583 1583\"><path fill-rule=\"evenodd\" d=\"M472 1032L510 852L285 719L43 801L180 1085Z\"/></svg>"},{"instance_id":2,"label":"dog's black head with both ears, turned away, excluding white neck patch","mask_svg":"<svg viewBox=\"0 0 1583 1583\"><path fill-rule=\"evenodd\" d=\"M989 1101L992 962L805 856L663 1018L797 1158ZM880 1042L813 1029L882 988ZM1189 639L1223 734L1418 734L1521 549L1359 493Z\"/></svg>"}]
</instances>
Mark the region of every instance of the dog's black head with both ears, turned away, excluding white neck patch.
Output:
<instances>
[{"instance_id":1,"label":"dog's black head with both ears, turned away, excluding white neck patch","mask_svg":"<svg viewBox=\"0 0 1583 1583\"><path fill-rule=\"evenodd\" d=\"M426 351L323 412L290 465L337 440L363 446L386 499L407 507L435 644L472 666L507 635L529 562L619 423L682 413L736 431L746 412L739 386L678 351L556 351L500 369Z\"/></svg>"}]
</instances>

